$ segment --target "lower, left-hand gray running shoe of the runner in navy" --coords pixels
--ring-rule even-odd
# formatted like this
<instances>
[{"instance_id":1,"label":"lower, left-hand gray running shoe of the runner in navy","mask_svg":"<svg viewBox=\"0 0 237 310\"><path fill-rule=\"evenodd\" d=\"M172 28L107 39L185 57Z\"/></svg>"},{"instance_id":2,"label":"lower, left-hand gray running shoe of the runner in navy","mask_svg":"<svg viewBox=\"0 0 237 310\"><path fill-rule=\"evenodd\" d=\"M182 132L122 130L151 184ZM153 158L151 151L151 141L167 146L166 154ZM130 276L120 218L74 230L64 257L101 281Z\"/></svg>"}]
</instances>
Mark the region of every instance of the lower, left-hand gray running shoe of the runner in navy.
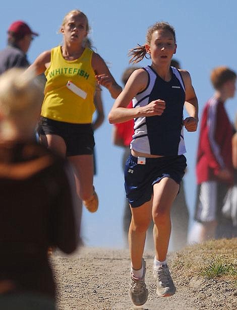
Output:
<instances>
[{"instance_id":1,"label":"lower, left-hand gray running shoe of the runner in navy","mask_svg":"<svg viewBox=\"0 0 237 310\"><path fill-rule=\"evenodd\" d=\"M131 274L131 282L129 294L135 305L142 305L147 301L148 289L145 284L146 262L142 259L143 275L142 279L138 279Z\"/></svg>"}]
</instances>

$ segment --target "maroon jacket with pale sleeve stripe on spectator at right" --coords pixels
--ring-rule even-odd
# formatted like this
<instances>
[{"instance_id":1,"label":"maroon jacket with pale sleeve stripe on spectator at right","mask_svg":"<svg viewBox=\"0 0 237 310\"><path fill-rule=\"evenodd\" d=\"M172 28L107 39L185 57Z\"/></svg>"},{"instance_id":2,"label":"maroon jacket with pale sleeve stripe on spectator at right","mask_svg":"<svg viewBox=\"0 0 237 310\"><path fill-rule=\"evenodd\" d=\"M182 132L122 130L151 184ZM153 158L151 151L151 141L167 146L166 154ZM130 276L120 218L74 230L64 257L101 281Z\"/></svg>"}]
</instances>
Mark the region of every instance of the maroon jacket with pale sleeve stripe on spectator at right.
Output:
<instances>
[{"instance_id":1,"label":"maroon jacket with pale sleeve stripe on spectator at right","mask_svg":"<svg viewBox=\"0 0 237 310\"><path fill-rule=\"evenodd\" d=\"M218 180L218 172L232 166L232 126L224 103L210 98L203 110L198 144L197 183Z\"/></svg>"}]
</instances>

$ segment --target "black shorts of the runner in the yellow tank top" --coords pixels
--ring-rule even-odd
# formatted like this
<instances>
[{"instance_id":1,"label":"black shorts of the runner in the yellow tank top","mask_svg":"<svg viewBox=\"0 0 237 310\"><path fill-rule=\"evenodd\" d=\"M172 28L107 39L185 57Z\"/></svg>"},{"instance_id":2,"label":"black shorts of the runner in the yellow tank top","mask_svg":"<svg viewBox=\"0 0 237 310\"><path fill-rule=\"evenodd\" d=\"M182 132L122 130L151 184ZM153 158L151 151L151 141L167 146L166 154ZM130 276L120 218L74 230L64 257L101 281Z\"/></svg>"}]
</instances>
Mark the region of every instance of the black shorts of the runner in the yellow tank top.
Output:
<instances>
[{"instance_id":1,"label":"black shorts of the runner in the yellow tank top","mask_svg":"<svg viewBox=\"0 0 237 310\"><path fill-rule=\"evenodd\" d=\"M37 132L39 135L62 137L66 143L67 156L93 154L95 141L91 123L75 124L41 116Z\"/></svg>"}]
</instances>

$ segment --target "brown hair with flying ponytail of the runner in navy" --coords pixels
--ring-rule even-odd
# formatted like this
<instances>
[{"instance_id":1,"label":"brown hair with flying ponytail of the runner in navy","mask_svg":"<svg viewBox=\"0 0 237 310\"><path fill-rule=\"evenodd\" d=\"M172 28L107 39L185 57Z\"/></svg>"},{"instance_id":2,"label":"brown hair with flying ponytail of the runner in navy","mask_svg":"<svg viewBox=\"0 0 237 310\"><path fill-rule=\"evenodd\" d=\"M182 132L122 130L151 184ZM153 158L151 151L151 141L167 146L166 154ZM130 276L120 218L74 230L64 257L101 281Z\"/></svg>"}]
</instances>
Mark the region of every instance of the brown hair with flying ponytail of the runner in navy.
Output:
<instances>
[{"instance_id":1,"label":"brown hair with flying ponytail of the runner in navy","mask_svg":"<svg viewBox=\"0 0 237 310\"><path fill-rule=\"evenodd\" d=\"M174 42L176 42L175 31L174 28L166 22L155 23L153 26L149 27L146 34L146 44L151 43L151 37L154 31L156 30L167 30L172 33ZM146 55L146 47L144 45L139 45L135 48L129 50L129 56L132 56L129 60L130 63L136 64L139 63L144 57L149 58Z\"/></svg>"}]
</instances>

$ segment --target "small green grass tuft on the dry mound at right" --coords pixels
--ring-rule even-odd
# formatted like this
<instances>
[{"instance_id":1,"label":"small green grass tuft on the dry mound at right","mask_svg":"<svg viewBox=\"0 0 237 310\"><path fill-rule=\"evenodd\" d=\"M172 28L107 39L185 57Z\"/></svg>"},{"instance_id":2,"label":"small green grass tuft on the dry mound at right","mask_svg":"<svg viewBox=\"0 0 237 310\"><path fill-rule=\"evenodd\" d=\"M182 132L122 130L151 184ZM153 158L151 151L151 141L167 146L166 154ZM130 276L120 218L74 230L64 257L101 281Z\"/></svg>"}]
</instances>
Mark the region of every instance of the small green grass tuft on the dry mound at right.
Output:
<instances>
[{"instance_id":1,"label":"small green grass tuft on the dry mound at right","mask_svg":"<svg viewBox=\"0 0 237 310\"><path fill-rule=\"evenodd\" d=\"M233 277L237 276L237 271L234 265L226 264L222 260L212 257L205 266L201 267L200 275L208 279L222 276Z\"/></svg>"}]
</instances>

